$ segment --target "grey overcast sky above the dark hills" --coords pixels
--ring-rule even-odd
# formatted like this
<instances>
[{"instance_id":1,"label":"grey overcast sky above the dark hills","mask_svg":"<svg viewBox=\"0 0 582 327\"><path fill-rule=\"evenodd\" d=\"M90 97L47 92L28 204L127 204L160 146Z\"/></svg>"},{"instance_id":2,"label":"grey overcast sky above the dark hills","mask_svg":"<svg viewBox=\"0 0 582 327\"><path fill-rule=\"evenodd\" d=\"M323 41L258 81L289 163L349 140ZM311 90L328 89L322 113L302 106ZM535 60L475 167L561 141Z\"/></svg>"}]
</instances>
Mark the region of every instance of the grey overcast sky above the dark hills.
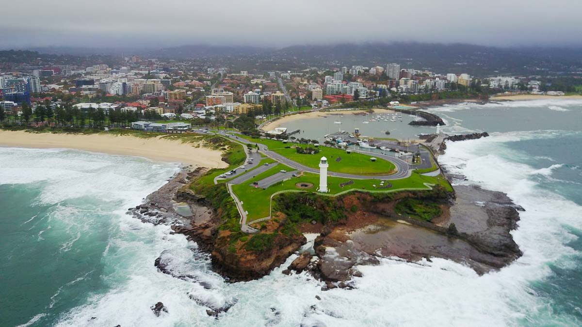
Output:
<instances>
[{"instance_id":1,"label":"grey overcast sky above the dark hills","mask_svg":"<svg viewBox=\"0 0 582 327\"><path fill-rule=\"evenodd\" d=\"M582 45L582 0L20 0L0 6L0 48Z\"/></svg>"}]
</instances>

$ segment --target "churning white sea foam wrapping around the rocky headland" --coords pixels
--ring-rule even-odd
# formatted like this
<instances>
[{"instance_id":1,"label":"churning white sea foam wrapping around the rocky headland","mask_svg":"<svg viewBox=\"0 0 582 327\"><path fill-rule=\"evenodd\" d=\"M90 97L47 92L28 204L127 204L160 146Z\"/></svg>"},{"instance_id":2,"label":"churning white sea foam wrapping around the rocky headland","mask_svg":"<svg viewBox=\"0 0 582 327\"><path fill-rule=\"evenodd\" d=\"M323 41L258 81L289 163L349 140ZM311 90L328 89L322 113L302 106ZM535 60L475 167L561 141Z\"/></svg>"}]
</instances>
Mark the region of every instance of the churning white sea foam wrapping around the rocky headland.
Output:
<instances>
[{"instance_id":1,"label":"churning white sea foam wrapping around the rocky headland","mask_svg":"<svg viewBox=\"0 0 582 327\"><path fill-rule=\"evenodd\" d=\"M69 239L74 239L79 231L82 234L93 233L95 229L107 231L101 278L109 289L105 293L93 294L86 304L62 315L56 325L517 324L545 305L531 291L530 282L549 275L549 262L574 253L572 248L564 245L574 236L562 225L580 228L581 208L537 187L530 179L536 169L512 161L515 153L504 143L552 138L560 133L493 133L491 137L479 140L449 143L446 154L441 157L441 162L453 172L462 173L487 189L505 191L526 209L520 212L520 227L513 232L524 255L514 264L499 272L478 276L467 266L438 258L417 263L382 259L381 265L359 267L364 276L355 279L357 289L327 292L322 292L321 283L305 272L290 276L281 273L296 255L262 279L225 283L211 271L210 260L207 255L197 252L195 243L187 241L183 235L171 234L168 226L144 224L125 214L126 207L141 202L145 195L161 186L175 167L158 166L156 170L152 168L154 163L139 163L137 159L125 162L119 159L120 162L106 165L111 158L104 156L105 159L100 161L85 157L85 161L97 160L98 164L90 170L68 166L68 169L77 169L78 176L86 179L77 183L70 175L49 169L49 178L32 176L30 180L47 183L39 201L60 206L60 214L51 212L52 230L68 230ZM81 157L77 159L83 160ZM77 163L84 165L81 161ZM91 166L91 163L87 164ZM14 180L29 183L24 177L15 177ZM97 212L97 218L88 216L76 204L74 200L79 198L84 204L88 199L96 199L89 208ZM116 209L111 210L111 207ZM76 240L71 246L74 248L80 243ZM154 261L162 252L168 254L173 272L193 276L195 280L210 285L211 289L205 289L189 278L182 280L157 271ZM200 305L189 295L214 307L235 299L237 303L217 321L208 317L207 306ZM321 301L315 298L316 295L321 297ZM168 314L155 317L150 307L158 301L168 308ZM27 324L33 323L29 321Z\"/></svg>"}]
</instances>

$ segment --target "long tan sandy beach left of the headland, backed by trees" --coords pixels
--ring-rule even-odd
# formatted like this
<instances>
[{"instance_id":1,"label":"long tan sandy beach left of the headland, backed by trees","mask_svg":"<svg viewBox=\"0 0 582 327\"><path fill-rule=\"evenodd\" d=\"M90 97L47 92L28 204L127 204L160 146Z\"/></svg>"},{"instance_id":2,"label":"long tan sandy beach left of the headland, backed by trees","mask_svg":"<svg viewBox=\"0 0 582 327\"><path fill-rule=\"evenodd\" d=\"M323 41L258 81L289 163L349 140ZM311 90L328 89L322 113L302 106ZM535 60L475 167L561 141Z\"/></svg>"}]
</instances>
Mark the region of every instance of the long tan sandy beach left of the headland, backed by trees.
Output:
<instances>
[{"instance_id":1,"label":"long tan sandy beach left of the headland, backed by trees","mask_svg":"<svg viewBox=\"0 0 582 327\"><path fill-rule=\"evenodd\" d=\"M180 162L207 168L224 168L221 152L194 143L107 134L53 134L0 130L0 146L70 148L115 155L131 155L155 161Z\"/></svg>"}]
</instances>

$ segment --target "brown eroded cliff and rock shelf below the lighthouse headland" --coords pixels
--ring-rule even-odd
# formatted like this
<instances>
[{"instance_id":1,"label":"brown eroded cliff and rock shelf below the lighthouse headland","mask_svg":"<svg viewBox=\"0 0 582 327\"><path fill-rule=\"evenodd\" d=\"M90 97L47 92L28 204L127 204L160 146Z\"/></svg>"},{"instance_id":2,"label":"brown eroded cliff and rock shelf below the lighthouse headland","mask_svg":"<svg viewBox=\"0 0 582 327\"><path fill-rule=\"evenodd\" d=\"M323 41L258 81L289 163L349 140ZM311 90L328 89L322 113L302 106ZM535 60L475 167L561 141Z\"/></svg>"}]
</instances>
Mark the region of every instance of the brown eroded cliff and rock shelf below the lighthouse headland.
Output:
<instances>
[{"instance_id":1,"label":"brown eroded cliff and rock shelf below the lighthouse headland","mask_svg":"<svg viewBox=\"0 0 582 327\"><path fill-rule=\"evenodd\" d=\"M361 275L355 267L378 264L378 257L408 261L440 257L482 274L521 255L510 231L517 227L518 211L523 209L500 192L455 186L455 193L437 188L350 193L338 198L296 194L294 200L286 197L281 202L281 210L289 212L279 212L274 219L256 224L259 233L246 234L237 229L236 209L212 205L212 199L186 187L201 173L204 170L180 173L131 211L144 222L169 224L175 233L196 241L200 250L210 253L213 269L230 282L270 273L306 243L302 232L320 234L314 251L301 255L285 272L309 271L325 281L327 289L352 287L350 279ZM410 198L438 205L441 214L428 221L399 214L396 206ZM179 216L173 211L175 201L187 202L193 216ZM169 269L163 254L158 259L155 265L161 272L191 280L191 276Z\"/></svg>"}]
</instances>

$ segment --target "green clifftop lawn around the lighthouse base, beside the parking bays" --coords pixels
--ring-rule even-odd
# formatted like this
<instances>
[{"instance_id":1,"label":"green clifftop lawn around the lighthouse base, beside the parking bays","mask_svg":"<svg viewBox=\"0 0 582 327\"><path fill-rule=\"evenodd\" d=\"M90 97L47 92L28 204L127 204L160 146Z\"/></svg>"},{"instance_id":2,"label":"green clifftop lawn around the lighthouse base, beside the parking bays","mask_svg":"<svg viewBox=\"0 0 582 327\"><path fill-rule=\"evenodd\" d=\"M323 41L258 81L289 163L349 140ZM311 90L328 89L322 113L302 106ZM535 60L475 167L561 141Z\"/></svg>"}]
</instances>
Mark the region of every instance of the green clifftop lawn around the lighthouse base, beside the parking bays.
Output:
<instances>
[{"instance_id":1,"label":"green clifftop lawn around the lighthouse base, beside the parking bays","mask_svg":"<svg viewBox=\"0 0 582 327\"><path fill-rule=\"evenodd\" d=\"M277 165L276 167L267 170L264 173L261 173L257 177L249 180L246 183L233 185L232 190L235 192L236 196L239 198L240 201L243 202L243 208L245 211L248 211L249 214L247 215L247 222L252 222L257 219L265 218L269 216L271 213L271 196L279 191L291 190L291 191L301 191L304 189L300 189L296 186L297 183L311 183L313 187L311 189L307 189L306 191L314 192L317 191L317 188L320 183L320 177L314 173L304 173L304 175L299 177L294 177L290 180L286 180L281 183L277 183L268 187L267 189L260 189L250 184L253 182L258 182L265 177L274 175L274 173L279 172L281 169L289 170L290 168L285 168L284 165ZM398 179L398 180L390 180L384 182L391 183L392 187L389 189L381 189L380 182L381 180L378 179L353 179L353 184L349 184L346 186L341 187L341 183L349 182L350 179L345 179L342 177L332 177L328 176L328 189L329 193L328 196L333 196L339 193L347 192L354 189L364 190L364 191L374 191L374 192L393 192L396 190L402 189L427 189L424 183L430 184L438 184L445 189L452 191L452 187L450 184L444 179L442 176L431 177L431 176L423 176L417 173L413 173L410 177L405 179ZM321 193L320 193L321 194Z\"/></svg>"}]
</instances>

